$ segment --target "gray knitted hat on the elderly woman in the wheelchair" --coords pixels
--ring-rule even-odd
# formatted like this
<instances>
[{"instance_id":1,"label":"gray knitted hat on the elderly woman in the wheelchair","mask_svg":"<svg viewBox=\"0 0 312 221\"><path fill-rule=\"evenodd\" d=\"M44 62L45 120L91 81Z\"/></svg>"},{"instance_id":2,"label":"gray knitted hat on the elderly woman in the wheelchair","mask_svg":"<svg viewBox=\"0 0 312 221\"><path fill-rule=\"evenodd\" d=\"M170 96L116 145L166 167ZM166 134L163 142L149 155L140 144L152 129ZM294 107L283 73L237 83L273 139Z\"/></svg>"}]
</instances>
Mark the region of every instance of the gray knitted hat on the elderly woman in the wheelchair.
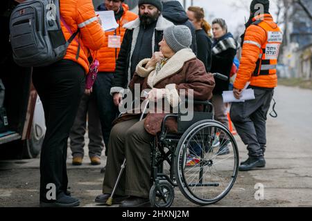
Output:
<instances>
[{"instance_id":1,"label":"gray knitted hat on the elderly woman in the wheelchair","mask_svg":"<svg viewBox=\"0 0 312 221\"><path fill-rule=\"evenodd\" d=\"M168 46L177 52L191 46L191 30L187 26L170 26L164 30L164 39Z\"/></svg>"}]
</instances>

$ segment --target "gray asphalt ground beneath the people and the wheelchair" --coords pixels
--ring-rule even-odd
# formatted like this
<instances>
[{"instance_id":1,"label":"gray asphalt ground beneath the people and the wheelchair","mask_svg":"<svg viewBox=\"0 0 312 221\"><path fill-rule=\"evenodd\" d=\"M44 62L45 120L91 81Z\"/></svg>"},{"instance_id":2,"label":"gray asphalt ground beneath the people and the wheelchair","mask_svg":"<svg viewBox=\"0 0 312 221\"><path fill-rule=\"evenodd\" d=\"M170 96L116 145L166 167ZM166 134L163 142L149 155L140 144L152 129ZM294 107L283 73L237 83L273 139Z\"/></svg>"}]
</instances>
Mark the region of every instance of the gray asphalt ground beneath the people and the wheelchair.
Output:
<instances>
[{"instance_id":1,"label":"gray asphalt ground beneath the people and the wheelchair","mask_svg":"<svg viewBox=\"0 0 312 221\"><path fill-rule=\"evenodd\" d=\"M312 206L312 90L279 86L274 97L278 117L268 116L266 168L239 172L229 194L212 206ZM245 146L235 137L245 160ZM0 161L0 206L39 206L39 162ZM101 166L89 164L87 156L83 166L71 166L70 151L67 162L72 194L81 206L99 206L94 198L101 194ZM197 206L177 188L175 193L173 206Z\"/></svg>"}]
</instances>

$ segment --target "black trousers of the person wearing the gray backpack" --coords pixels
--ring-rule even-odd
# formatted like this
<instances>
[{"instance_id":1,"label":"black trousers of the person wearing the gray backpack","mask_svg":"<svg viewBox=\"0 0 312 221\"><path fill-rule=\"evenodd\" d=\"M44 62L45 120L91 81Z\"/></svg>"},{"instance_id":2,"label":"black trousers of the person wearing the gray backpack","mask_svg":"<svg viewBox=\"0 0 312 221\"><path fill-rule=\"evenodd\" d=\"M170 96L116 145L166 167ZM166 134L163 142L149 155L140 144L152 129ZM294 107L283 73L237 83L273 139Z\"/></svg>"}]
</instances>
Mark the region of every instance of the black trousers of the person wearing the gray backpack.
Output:
<instances>
[{"instance_id":1,"label":"black trousers of the person wearing the gray backpack","mask_svg":"<svg viewBox=\"0 0 312 221\"><path fill-rule=\"evenodd\" d=\"M67 190L67 140L85 90L85 70L61 60L33 69L33 84L44 107L46 135L40 155L40 201L51 202ZM54 188L55 187L55 188Z\"/></svg>"}]
</instances>

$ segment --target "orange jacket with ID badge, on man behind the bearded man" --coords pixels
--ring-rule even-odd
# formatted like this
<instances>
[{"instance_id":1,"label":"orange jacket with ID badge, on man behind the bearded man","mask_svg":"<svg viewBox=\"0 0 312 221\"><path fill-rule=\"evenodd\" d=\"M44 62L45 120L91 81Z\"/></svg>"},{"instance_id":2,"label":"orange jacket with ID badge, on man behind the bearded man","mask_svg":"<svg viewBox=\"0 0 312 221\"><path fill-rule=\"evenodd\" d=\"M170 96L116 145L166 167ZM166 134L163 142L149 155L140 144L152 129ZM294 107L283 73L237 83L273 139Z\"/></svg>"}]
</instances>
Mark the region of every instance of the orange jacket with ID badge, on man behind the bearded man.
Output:
<instances>
[{"instance_id":1,"label":"orange jacket with ID badge, on man behind the bearded man","mask_svg":"<svg viewBox=\"0 0 312 221\"><path fill-rule=\"evenodd\" d=\"M105 44L104 46L98 50L97 52L97 59L100 62L100 67L98 70L100 72L114 72L116 66L116 59L119 54L120 48L108 48L108 36L109 35L119 35L121 37L121 42L123 41L123 35L125 35L125 28L122 26L129 21L133 21L137 19L137 15L133 12L129 11L128 5L123 3L123 15L121 19L117 21L119 24L119 28L112 32L105 32Z\"/></svg>"}]
</instances>

